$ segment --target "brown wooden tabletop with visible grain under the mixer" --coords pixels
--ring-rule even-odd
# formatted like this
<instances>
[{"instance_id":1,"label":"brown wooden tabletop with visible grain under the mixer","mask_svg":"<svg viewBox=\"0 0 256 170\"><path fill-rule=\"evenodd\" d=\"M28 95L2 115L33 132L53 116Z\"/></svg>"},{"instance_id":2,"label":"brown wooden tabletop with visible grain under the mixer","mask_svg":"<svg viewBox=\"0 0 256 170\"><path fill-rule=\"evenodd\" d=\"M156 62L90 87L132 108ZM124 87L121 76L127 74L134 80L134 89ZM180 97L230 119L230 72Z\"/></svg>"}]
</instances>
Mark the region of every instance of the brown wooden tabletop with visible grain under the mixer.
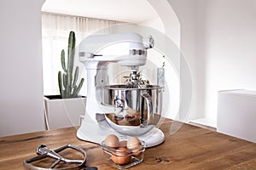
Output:
<instances>
[{"instance_id":1,"label":"brown wooden tabletop with visible grain under the mixer","mask_svg":"<svg viewBox=\"0 0 256 170\"><path fill-rule=\"evenodd\" d=\"M189 124L183 124L177 133L170 134L173 124L166 120L160 126L166 135L165 142L148 148L143 162L131 169L256 169L255 143ZM104 161L98 144L77 139L76 130L68 127L0 138L0 169L25 169L23 161L36 156L39 144L47 144L52 149L74 144L87 152L88 166L116 169Z\"/></svg>"}]
</instances>

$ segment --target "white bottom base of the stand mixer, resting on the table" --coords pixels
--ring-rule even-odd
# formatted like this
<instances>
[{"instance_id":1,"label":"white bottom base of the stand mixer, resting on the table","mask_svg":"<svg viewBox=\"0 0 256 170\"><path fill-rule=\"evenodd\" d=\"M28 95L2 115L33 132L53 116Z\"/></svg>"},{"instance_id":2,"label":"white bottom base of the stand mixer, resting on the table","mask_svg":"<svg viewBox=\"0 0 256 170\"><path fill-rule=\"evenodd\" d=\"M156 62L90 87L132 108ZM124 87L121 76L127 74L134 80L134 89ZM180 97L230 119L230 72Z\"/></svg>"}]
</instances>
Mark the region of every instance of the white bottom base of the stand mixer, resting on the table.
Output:
<instances>
[{"instance_id":1,"label":"white bottom base of the stand mixer, resting on the table","mask_svg":"<svg viewBox=\"0 0 256 170\"><path fill-rule=\"evenodd\" d=\"M77 137L79 139L96 144L101 144L108 134L115 134L119 138L124 137L123 134L115 132L106 121L91 122L83 120L77 131ZM148 133L145 133L142 136L137 136L137 138L146 142L147 147L152 147L163 143L165 135L159 128L154 127Z\"/></svg>"}]
</instances>

